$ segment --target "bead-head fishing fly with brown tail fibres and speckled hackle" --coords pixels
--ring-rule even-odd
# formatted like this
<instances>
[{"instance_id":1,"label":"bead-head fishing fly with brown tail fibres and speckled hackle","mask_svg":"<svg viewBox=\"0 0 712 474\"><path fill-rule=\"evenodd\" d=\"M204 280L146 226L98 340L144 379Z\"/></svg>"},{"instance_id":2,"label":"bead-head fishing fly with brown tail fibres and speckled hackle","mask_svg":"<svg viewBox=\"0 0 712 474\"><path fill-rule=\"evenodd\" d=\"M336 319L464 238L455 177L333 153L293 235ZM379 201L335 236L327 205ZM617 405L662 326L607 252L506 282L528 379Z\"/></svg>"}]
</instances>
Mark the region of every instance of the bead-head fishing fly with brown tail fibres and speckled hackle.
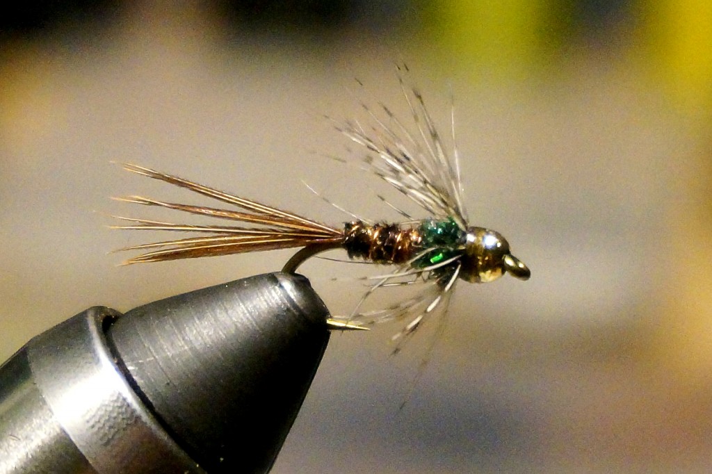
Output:
<instances>
[{"instance_id":1,"label":"bead-head fishing fly with brown tail fibres and speckled hackle","mask_svg":"<svg viewBox=\"0 0 712 474\"><path fill-rule=\"evenodd\" d=\"M403 320L406 324L393 337L394 340L404 340L412 335L427 315L449 299L458 280L487 283L504 273L527 280L529 269L511 254L508 242L500 233L468 224L461 196L457 150L454 148L452 154L446 152L422 95L416 88L405 85L402 76L399 76L399 82L417 134L409 132L383 105L382 113L378 115L370 107L363 106L372 121L368 130L356 121L347 121L337 126L337 130L362 147L362 162L367 169L422 207L429 218L417 221L397 209L407 221L385 223L357 219L342 226L328 226L187 179L125 164L127 171L221 201L229 204L231 209L177 204L141 196L119 198L120 201L239 223L199 226L119 217L128 224L115 228L200 235L123 248L121 250L145 251L126 263L300 248L283 268L286 273L294 273L301 263L315 254L340 248L352 259L394 265L396 268L392 273L372 277L374 283L351 314L330 319L328 324L333 329L350 330L365 329L365 325L371 322ZM362 304L375 290L416 283L428 285L428 288L416 297L391 307L360 311Z\"/></svg>"}]
</instances>

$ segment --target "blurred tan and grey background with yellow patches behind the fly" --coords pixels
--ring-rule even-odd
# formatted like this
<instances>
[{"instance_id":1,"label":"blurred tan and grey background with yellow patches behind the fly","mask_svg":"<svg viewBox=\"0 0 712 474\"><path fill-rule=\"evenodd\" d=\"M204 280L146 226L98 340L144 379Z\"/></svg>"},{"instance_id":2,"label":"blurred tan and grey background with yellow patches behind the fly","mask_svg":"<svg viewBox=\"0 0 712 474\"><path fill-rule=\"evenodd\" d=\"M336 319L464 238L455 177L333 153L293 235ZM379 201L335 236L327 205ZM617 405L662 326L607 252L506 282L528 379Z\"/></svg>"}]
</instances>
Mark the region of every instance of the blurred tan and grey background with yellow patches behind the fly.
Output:
<instances>
[{"instance_id":1,"label":"blurred tan and grey background with yellow patches behind the fly","mask_svg":"<svg viewBox=\"0 0 712 474\"><path fill-rule=\"evenodd\" d=\"M290 256L117 267L108 251L161 237L106 228L155 216L109 196L192 196L111 162L348 220L304 179L397 218L382 184L323 158L348 154L323 115L364 97L403 113L405 61L445 135L452 91L473 224L533 276L461 283L429 355L427 331L397 357L392 328L333 335L273 472L712 470L707 0L25 5L0 7L0 359L90 305ZM362 288L331 279L353 268L303 273L343 314Z\"/></svg>"}]
</instances>

